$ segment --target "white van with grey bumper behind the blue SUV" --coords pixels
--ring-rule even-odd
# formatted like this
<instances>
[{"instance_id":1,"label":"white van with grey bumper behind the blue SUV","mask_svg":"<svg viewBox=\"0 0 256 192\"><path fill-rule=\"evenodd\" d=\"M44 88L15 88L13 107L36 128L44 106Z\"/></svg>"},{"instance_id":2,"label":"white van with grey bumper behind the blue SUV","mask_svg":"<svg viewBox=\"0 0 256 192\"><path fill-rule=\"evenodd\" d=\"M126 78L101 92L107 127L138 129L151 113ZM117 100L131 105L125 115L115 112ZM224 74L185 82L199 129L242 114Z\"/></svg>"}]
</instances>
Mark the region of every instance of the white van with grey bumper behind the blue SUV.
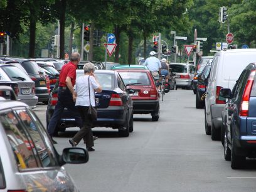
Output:
<instances>
[{"instance_id":1,"label":"white van with grey bumper behind the blue SUV","mask_svg":"<svg viewBox=\"0 0 256 192\"><path fill-rule=\"evenodd\" d=\"M225 99L219 97L221 88L232 88L243 69L256 61L256 49L219 51L213 57L205 98L205 132L212 140L220 139L221 112Z\"/></svg>"}]
</instances>

